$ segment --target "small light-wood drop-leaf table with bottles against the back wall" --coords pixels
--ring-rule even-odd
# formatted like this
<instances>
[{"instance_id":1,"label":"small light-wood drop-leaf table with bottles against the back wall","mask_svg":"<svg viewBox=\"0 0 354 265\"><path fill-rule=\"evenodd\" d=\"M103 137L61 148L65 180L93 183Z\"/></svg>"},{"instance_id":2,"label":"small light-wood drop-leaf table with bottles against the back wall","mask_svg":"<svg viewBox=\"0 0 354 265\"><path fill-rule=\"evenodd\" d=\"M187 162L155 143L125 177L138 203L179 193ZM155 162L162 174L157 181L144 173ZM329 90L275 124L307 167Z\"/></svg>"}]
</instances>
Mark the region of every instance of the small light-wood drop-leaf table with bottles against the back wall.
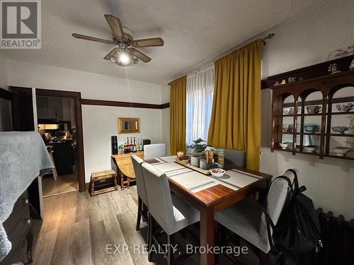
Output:
<instances>
[{"instance_id":1,"label":"small light-wood drop-leaf table with bottles against the back wall","mask_svg":"<svg viewBox=\"0 0 354 265\"><path fill-rule=\"evenodd\" d=\"M120 176L120 189L124 189L124 185L127 188L130 187L130 182L135 182L135 172L132 165L132 155L137 155L139 158L144 159L144 151L137 151L135 153L123 153L118 155L112 155L113 163L117 167L117 175ZM125 177L127 180L125 180Z\"/></svg>"}]
</instances>

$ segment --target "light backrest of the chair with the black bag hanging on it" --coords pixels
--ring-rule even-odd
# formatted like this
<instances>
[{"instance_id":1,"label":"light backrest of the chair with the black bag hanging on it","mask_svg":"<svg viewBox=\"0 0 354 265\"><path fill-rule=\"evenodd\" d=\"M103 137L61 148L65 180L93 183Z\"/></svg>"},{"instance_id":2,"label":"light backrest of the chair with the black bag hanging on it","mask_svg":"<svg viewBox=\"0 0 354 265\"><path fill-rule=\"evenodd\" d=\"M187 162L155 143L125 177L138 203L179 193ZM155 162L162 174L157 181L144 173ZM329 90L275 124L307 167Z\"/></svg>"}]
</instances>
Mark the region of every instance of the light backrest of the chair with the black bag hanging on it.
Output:
<instances>
[{"instance_id":1,"label":"light backrest of the chair with the black bag hanging on it","mask_svg":"<svg viewBox=\"0 0 354 265\"><path fill-rule=\"evenodd\" d=\"M298 170L294 171L297 173L297 175L299 175ZM291 171L286 171L283 175L290 179L290 182L292 182L292 185L294 187L294 173ZM280 218L280 214L282 213L282 209L284 208L285 203L290 199L290 196L291 190L288 182L285 179L275 179L270 185L267 196L267 212L270 218L272 219L274 225L277 225L278 220ZM266 240L265 243L268 244L268 247L270 249L264 213L262 213L261 216L261 223L258 232L260 235L263 235ZM273 230L271 228L270 235L273 235Z\"/></svg>"}]
</instances>

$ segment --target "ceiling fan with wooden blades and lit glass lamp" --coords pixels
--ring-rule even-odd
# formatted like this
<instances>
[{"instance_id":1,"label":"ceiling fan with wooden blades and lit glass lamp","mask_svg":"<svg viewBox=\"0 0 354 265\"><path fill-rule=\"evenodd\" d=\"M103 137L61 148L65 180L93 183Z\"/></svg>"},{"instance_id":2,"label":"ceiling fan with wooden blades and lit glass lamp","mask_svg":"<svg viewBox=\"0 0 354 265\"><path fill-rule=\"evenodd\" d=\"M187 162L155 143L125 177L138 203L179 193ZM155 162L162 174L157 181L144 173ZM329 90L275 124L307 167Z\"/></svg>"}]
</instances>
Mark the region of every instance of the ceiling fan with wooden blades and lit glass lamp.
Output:
<instances>
[{"instance_id":1,"label":"ceiling fan with wooden blades and lit glass lamp","mask_svg":"<svg viewBox=\"0 0 354 265\"><path fill-rule=\"evenodd\" d=\"M103 59L110 60L113 64L118 64L122 67L137 64L138 59L147 63L151 61L151 58L135 48L164 46L164 40L162 40L161 37L133 40L132 35L127 33L127 31L130 30L126 27L122 27L119 18L108 14L105 14L104 16L112 31L112 40L103 40L98 37L72 33L72 36L78 39L92 40L93 42L102 42L109 45L118 45L118 47L115 47L103 57ZM126 32L123 31L123 28L125 28Z\"/></svg>"}]
</instances>

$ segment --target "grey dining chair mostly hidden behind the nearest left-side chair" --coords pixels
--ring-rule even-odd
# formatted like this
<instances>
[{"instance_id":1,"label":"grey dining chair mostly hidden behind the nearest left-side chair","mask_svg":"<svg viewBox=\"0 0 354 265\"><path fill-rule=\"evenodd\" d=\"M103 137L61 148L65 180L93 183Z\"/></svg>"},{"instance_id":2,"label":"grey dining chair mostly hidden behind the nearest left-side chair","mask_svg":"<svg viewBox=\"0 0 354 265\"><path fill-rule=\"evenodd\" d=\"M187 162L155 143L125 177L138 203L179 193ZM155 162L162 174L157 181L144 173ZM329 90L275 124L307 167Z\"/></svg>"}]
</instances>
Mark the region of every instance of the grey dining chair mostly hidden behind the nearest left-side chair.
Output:
<instances>
[{"instance_id":1,"label":"grey dining chair mostly hidden behind the nearest left-side chair","mask_svg":"<svg viewBox=\"0 0 354 265\"><path fill-rule=\"evenodd\" d=\"M147 189L145 187L144 176L142 175L142 163L144 163L144 160L142 160L142 158L139 158L139 156L137 155L132 155L131 158L135 172L135 179L137 182L138 206L136 230L138 231L140 229L140 221L142 220L142 218L147 223L149 204L147 203ZM149 240L149 235L147 236Z\"/></svg>"}]
</instances>

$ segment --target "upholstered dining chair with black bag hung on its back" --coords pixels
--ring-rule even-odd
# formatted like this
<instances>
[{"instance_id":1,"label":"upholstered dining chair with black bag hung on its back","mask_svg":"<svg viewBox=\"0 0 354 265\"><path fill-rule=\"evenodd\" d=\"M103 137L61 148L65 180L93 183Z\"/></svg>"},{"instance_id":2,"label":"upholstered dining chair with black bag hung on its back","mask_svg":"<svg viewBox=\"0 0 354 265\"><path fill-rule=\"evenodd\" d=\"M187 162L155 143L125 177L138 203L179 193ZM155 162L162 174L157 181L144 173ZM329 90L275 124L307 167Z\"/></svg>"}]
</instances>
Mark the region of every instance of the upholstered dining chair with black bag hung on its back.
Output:
<instances>
[{"instance_id":1,"label":"upholstered dining chair with black bag hung on its back","mask_svg":"<svg viewBox=\"0 0 354 265\"><path fill-rule=\"evenodd\" d=\"M286 171L283 175L294 183L295 175L292 171ZM270 185L266 210L274 225L278 223L282 208L285 202L290 199L290 196L289 184L285 179L275 179ZM234 206L215 213L215 220L258 248L259 264L268 262L270 243L263 205L256 201L245 199L234 204ZM270 228L270 235L272 234L273 231Z\"/></svg>"}]
</instances>

